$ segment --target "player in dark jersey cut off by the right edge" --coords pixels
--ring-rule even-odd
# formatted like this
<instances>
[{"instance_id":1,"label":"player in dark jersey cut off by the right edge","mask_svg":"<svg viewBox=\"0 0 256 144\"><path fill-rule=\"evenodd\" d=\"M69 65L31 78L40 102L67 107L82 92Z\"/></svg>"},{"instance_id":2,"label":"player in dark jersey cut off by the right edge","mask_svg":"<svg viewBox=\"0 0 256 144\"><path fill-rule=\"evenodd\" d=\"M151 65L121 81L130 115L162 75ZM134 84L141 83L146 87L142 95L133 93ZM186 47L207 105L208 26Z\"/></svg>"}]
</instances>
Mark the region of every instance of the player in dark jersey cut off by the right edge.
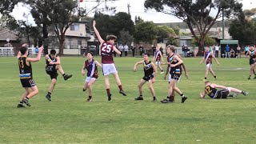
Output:
<instances>
[{"instance_id":1,"label":"player in dark jersey cut off by the right edge","mask_svg":"<svg viewBox=\"0 0 256 144\"><path fill-rule=\"evenodd\" d=\"M254 45L250 45L250 50L246 53L246 58L249 58L249 64L250 64L250 75L248 79L250 79L251 75L254 73L254 79L256 79L256 73L255 73L255 62L256 62L256 50L254 49Z\"/></svg>"}]
</instances>

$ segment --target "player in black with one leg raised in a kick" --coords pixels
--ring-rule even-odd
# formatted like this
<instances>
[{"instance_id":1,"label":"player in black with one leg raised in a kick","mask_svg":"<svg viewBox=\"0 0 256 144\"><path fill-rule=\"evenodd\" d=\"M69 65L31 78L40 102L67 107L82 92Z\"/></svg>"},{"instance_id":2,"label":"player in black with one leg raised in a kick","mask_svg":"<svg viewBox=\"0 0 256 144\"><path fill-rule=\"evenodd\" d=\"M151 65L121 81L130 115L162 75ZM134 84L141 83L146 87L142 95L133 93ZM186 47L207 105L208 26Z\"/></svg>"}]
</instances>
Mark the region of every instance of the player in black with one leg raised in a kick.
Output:
<instances>
[{"instance_id":1,"label":"player in black with one leg raised in a kick","mask_svg":"<svg viewBox=\"0 0 256 144\"><path fill-rule=\"evenodd\" d=\"M64 80L72 77L72 74L65 74L61 65L61 58L56 55L56 50L50 50L50 54L46 54L46 74L50 75L51 83L46 98L51 101L51 93L57 82L58 72L62 74Z\"/></svg>"}]
</instances>

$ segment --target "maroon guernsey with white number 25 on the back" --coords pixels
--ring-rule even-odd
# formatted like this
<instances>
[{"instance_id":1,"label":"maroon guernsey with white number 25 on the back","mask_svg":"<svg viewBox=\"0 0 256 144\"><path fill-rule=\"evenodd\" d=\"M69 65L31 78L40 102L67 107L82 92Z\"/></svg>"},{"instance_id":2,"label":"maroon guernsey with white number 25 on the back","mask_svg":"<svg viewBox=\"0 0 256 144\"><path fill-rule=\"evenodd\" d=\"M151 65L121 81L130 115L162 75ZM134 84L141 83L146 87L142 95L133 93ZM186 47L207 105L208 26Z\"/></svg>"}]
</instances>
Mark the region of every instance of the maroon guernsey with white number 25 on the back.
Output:
<instances>
[{"instance_id":1,"label":"maroon guernsey with white number 25 on the back","mask_svg":"<svg viewBox=\"0 0 256 144\"><path fill-rule=\"evenodd\" d=\"M103 42L101 46L102 64L114 63L113 60L113 47L110 42Z\"/></svg>"}]
</instances>

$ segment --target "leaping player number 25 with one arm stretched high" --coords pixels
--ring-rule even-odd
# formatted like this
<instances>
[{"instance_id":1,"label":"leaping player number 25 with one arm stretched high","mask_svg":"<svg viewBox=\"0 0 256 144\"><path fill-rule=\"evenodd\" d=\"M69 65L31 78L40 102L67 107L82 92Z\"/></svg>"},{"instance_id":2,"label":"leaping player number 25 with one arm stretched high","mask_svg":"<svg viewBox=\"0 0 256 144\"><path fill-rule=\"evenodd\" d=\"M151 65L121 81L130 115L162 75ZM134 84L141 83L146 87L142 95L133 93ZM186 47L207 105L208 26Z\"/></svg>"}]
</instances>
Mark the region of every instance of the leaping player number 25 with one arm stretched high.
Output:
<instances>
[{"instance_id":1,"label":"leaping player number 25 with one arm stretched high","mask_svg":"<svg viewBox=\"0 0 256 144\"><path fill-rule=\"evenodd\" d=\"M122 94L123 96L126 96L126 93L124 92L124 90L122 90L122 83L118 76L118 71L114 66L114 60L113 60L113 51L116 52L116 54L121 54L121 52L114 46L114 41L116 40L116 36L108 35L106 37L106 41L104 41L96 28L95 21L93 22L93 27L94 27L94 32L98 38L98 42L101 43L100 52L102 55L102 71L105 79L106 93L107 93L108 100L109 101L111 100L109 74L114 75L115 82L117 82L119 87L119 93Z\"/></svg>"}]
</instances>

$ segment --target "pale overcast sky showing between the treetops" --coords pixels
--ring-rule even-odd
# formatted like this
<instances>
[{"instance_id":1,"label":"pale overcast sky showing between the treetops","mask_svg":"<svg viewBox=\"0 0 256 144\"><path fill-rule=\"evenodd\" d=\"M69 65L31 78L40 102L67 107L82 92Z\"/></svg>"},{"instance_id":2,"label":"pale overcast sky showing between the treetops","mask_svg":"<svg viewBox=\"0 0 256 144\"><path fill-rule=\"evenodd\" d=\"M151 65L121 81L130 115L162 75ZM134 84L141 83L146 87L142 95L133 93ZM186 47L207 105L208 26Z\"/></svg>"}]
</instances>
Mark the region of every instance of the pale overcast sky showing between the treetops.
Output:
<instances>
[{"instance_id":1,"label":"pale overcast sky showing between the treetops","mask_svg":"<svg viewBox=\"0 0 256 144\"><path fill-rule=\"evenodd\" d=\"M92 2L94 0L84 0L84 2L81 3L82 7L86 7L87 10L91 10L92 7L96 6L97 3ZM175 18L174 16L170 16L167 14L162 14L155 12L154 10L147 10L145 12L144 8L144 2L145 0L116 0L115 2L106 2L106 5L108 6L116 6L117 12L128 12L127 4L130 4L130 14L131 18L134 20L135 16L140 16L143 20L146 21L153 21L155 23L159 22L182 22L178 18ZM243 9L251 9L256 7L255 0L241 0L243 4ZM101 4L100 7L105 6L105 2ZM18 4L18 6L15 6L14 11L12 15L16 19L26 19L23 18L23 14L30 14L30 10L27 8L27 6L22 6L22 4ZM92 14L90 16L93 16ZM33 18L30 15L28 18L28 21L30 23L33 23Z\"/></svg>"}]
</instances>

